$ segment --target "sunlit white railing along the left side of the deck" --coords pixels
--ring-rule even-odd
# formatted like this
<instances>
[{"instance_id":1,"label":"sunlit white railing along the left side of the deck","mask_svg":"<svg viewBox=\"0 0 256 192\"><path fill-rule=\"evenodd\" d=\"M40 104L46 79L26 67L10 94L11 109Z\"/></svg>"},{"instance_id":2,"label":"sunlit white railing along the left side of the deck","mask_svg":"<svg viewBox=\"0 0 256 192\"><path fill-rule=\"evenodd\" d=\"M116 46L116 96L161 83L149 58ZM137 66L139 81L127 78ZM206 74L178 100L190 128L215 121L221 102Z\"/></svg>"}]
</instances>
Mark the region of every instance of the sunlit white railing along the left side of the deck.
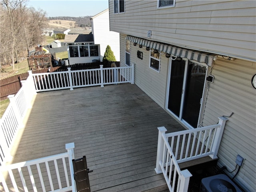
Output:
<instances>
[{"instance_id":1,"label":"sunlit white railing along the left side of the deck","mask_svg":"<svg viewBox=\"0 0 256 192\"><path fill-rule=\"evenodd\" d=\"M36 94L32 72L27 80L21 81L22 88L18 93L9 95L10 104L0 120L0 166L11 160L10 149L17 136L19 128L23 128L23 119L26 112L31 108L31 102Z\"/></svg>"}]
</instances>

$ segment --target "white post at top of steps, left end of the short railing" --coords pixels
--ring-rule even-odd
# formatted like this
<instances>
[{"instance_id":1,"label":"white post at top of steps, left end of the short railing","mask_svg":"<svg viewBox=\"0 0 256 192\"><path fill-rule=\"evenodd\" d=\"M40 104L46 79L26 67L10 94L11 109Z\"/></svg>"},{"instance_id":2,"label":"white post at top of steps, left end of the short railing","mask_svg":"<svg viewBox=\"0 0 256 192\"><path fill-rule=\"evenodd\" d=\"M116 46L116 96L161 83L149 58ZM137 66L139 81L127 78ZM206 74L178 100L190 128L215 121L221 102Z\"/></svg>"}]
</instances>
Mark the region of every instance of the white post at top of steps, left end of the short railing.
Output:
<instances>
[{"instance_id":1,"label":"white post at top of steps, left end of the short railing","mask_svg":"<svg viewBox=\"0 0 256 192\"><path fill-rule=\"evenodd\" d=\"M164 140L162 138L162 133L165 133L166 131L167 129L165 127L158 127L158 143L157 143L156 168L155 168L155 171L157 174L162 173L159 162L162 159L163 153L164 153Z\"/></svg>"}]
</instances>

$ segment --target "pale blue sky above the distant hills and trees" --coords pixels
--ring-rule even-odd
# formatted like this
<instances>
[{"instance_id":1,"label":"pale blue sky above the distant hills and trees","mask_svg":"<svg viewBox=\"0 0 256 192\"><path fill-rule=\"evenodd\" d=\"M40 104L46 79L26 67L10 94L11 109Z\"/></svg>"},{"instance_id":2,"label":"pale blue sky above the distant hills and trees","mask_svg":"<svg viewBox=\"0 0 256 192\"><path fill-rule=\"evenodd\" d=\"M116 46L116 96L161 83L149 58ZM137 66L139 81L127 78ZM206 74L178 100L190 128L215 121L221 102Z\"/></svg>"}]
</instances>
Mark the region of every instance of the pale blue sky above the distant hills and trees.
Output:
<instances>
[{"instance_id":1,"label":"pale blue sky above the distant hills and trees","mask_svg":"<svg viewBox=\"0 0 256 192\"><path fill-rule=\"evenodd\" d=\"M27 6L46 11L47 17L94 16L108 8L108 0L28 0Z\"/></svg>"}]
</instances>

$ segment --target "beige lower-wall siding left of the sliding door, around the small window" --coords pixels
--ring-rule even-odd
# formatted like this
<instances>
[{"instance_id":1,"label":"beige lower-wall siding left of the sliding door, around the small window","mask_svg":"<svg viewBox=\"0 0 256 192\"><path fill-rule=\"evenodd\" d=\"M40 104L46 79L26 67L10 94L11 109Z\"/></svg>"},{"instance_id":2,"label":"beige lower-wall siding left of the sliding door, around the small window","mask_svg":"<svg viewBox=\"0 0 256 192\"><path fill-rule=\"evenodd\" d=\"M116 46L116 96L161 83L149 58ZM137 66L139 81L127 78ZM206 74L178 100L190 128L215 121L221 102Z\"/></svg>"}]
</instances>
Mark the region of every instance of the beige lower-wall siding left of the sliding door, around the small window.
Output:
<instances>
[{"instance_id":1,"label":"beige lower-wall siding left of the sliding door, around the small window","mask_svg":"<svg viewBox=\"0 0 256 192\"><path fill-rule=\"evenodd\" d=\"M125 53L125 35L121 35L121 61L124 61ZM143 53L142 60L137 58L137 51ZM131 44L131 63L135 64L134 83L152 98L159 106L164 108L166 94L166 78L168 74L168 58L165 54L161 55L160 72L149 67L150 51L146 48L139 48ZM125 66L124 62L120 62Z\"/></svg>"}]
</instances>

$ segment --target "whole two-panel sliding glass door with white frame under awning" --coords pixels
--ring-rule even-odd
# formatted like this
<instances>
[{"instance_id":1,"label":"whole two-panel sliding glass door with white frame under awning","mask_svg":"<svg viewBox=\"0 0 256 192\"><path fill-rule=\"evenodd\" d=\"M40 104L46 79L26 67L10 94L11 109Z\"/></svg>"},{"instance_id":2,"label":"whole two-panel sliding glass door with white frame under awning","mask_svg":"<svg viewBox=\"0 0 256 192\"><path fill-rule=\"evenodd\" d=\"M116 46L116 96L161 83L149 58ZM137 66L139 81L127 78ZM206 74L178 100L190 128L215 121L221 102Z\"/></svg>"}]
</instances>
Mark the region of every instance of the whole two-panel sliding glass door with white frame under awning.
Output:
<instances>
[{"instance_id":1,"label":"whole two-panel sliding glass door with white frame under awning","mask_svg":"<svg viewBox=\"0 0 256 192\"><path fill-rule=\"evenodd\" d=\"M198 125L207 67L191 61L172 60L167 108L193 128Z\"/></svg>"}]
</instances>

